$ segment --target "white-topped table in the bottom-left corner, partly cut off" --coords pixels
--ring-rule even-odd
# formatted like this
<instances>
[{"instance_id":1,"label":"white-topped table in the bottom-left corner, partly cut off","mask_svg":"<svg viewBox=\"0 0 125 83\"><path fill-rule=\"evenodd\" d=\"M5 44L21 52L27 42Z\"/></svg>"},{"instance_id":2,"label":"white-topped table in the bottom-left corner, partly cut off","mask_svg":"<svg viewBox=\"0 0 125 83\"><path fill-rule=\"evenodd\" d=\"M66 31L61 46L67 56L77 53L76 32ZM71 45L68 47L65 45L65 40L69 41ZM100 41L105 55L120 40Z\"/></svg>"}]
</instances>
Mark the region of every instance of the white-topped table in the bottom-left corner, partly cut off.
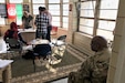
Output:
<instances>
[{"instance_id":1,"label":"white-topped table in the bottom-left corner, partly cut off","mask_svg":"<svg viewBox=\"0 0 125 83\"><path fill-rule=\"evenodd\" d=\"M0 60L0 72L3 73L2 82L10 83L11 80L11 63L13 60Z\"/></svg>"}]
</instances>

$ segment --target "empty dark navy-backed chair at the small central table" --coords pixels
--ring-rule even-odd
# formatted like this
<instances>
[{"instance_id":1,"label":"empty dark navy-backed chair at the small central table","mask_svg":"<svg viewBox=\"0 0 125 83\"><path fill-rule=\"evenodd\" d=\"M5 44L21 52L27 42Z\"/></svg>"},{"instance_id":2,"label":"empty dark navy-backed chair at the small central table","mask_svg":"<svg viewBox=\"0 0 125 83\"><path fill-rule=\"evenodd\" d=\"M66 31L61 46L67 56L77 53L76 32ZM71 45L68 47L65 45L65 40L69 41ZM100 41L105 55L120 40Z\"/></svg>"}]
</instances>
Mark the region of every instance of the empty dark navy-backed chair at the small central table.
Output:
<instances>
[{"instance_id":1,"label":"empty dark navy-backed chair at the small central table","mask_svg":"<svg viewBox=\"0 0 125 83\"><path fill-rule=\"evenodd\" d=\"M49 56L51 55L51 45L50 44L38 44L34 46L33 49L33 53L34 53L34 56L33 56L33 66L34 66L34 71L35 71L35 56L40 59L43 59L44 60L49 60Z\"/></svg>"}]
</instances>

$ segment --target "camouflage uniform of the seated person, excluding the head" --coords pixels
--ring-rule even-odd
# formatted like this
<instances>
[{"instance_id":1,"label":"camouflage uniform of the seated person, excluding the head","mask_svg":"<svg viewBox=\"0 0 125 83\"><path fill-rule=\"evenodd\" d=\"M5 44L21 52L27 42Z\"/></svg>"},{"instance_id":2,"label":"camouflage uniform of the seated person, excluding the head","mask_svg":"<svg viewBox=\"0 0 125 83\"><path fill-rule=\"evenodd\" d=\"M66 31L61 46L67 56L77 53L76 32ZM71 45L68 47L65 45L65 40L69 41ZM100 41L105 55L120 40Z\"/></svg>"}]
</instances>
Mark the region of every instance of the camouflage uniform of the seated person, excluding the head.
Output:
<instances>
[{"instance_id":1,"label":"camouflage uniform of the seated person, excluding the head","mask_svg":"<svg viewBox=\"0 0 125 83\"><path fill-rule=\"evenodd\" d=\"M77 72L69 74L67 83L106 83L111 52L105 49L82 63Z\"/></svg>"}]
</instances>

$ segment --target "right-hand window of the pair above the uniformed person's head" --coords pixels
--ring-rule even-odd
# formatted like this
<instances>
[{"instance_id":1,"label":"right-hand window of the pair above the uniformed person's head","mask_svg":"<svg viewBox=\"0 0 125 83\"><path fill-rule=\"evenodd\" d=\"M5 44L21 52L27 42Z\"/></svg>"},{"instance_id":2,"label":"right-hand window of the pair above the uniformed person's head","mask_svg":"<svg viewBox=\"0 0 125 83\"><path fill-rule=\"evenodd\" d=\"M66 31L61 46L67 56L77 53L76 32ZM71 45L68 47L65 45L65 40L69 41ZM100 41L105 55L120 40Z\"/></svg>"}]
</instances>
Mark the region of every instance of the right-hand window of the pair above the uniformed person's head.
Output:
<instances>
[{"instance_id":1,"label":"right-hand window of the pair above the uniformed person's head","mask_svg":"<svg viewBox=\"0 0 125 83\"><path fill-rule=\"evenodd\" d=\"M106 39L113 40L114 38L113 30L115 29L117 9L118 9L118 0L101 1L97 35L103 35Z\"/></svg>"}]
</instances>

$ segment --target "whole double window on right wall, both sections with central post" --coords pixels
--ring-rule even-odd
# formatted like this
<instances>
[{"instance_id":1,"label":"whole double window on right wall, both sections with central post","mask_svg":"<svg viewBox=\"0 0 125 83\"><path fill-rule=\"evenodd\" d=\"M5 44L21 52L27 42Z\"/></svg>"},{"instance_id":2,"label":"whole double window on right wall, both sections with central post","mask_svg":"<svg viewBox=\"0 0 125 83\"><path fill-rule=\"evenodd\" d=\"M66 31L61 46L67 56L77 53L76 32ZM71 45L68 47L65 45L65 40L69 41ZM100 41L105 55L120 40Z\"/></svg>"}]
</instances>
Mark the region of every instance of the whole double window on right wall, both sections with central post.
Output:
<instances>
[{"instance_id":1,"label":"whole double window on right wall, both sections with central post","mask_svg":"<svg viewBox=\"0 0 125 83\"><path fill-rule=\"evenodd\" d=\"M117 9L118 0L81 1L79 31L113 40Z\"/></svg>"}]
</instances>

